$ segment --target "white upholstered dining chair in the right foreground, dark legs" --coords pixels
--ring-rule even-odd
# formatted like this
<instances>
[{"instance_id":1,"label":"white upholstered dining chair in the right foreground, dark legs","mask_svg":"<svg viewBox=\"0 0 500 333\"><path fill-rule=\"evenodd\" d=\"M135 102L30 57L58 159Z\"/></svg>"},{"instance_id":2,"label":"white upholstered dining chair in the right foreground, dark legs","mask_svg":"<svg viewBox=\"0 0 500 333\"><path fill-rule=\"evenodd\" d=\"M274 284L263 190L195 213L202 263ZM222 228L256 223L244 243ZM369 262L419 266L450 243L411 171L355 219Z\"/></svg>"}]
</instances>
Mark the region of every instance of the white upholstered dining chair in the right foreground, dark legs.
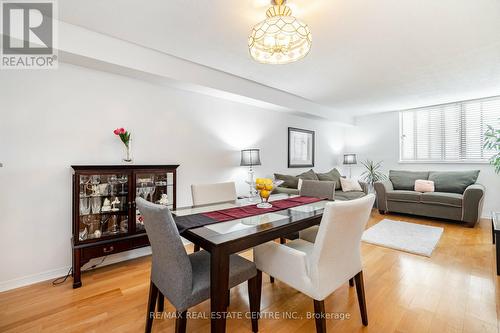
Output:
<instances>
[{"instance_id":1,"label":"white upholstered dining chair in the right foreground, dark legs","mask_svg":"<svg viewBox=\"0 0 500 333\"><path fill-rule=\"evenodd\" d=\"M360 244L374 201L375 196L369 194L327 203L314 243L297 239L284 245L268 242L254 248L258 270L314 300L317 332L326 332L325 298L352 277L362 322L368 325Z\"/></svg>"}]
</instances>

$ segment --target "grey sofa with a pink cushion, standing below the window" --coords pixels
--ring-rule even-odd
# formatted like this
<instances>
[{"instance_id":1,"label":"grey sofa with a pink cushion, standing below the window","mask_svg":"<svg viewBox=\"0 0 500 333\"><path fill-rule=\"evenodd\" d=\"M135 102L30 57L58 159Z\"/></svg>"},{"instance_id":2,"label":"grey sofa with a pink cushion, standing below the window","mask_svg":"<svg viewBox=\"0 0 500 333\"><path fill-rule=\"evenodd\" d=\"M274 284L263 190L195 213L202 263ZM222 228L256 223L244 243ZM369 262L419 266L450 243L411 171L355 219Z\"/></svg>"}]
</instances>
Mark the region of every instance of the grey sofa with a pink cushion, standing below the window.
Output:
<instances>
[{"instance_id":1,"label":"grey sofa with a pink cushion, standing below the window","mask_svg":"<svg viewBox=\"0 0 500 333\"><path fill-rule=\"evenodd\" d=\"M481 217L484 186L476 183L479 170L391 170L389 179L374 184L381 214L389 212L442 218L474 227ZM434 191L415 191L416 180L433 182Z\"/></svg>"}]
</instances>

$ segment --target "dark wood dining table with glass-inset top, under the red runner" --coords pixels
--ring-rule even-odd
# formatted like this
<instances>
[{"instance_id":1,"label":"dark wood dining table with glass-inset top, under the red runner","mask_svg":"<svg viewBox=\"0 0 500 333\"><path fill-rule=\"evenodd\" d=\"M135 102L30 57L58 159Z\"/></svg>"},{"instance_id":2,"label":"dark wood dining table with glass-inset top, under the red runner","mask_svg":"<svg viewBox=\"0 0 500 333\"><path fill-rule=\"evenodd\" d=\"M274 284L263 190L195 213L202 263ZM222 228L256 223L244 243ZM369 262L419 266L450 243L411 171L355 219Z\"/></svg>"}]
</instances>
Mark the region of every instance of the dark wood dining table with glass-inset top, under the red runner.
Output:
<instances>
[{"instance_id":1,"label":"dark wood dining table with glass-inset top, under the red runner","mask_svg":"<svg viewBox=\"0 0 500 333\"><path fill-rule=\"evenodd\" d=\"M273 195L270 201L291 198L286 194ZM262 215L219 222L184 231L181 236L210 252L211 332L226 330L226 311L229 297L229 256L259 244L273 241L320 223L327 201L300 205ZM255 205L248 199L178 209L174 216L213 212L226 208Z\"/></svg>"}]
</instances>

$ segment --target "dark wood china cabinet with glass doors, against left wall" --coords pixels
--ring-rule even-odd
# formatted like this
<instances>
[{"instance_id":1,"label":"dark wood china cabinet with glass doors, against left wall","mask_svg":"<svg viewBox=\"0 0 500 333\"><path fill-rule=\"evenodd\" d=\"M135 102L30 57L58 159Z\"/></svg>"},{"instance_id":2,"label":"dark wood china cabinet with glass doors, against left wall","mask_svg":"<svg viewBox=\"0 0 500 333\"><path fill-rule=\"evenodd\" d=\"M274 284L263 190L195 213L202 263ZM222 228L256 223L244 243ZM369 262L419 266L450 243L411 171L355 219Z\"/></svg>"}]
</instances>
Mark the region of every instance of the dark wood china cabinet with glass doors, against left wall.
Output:
<instances>
[{"instance_id":1,"label":"dark wood china cabinet with glass doors, against left wall","mask_svg":"<svg viewBox=\"0 0 500 333\"><path fill-rule=\"evenodd\" d=\"M73 288L93 258L149 246L135 198L176 209L178 165L74 165Z\"/></svg>"}]
</instances>

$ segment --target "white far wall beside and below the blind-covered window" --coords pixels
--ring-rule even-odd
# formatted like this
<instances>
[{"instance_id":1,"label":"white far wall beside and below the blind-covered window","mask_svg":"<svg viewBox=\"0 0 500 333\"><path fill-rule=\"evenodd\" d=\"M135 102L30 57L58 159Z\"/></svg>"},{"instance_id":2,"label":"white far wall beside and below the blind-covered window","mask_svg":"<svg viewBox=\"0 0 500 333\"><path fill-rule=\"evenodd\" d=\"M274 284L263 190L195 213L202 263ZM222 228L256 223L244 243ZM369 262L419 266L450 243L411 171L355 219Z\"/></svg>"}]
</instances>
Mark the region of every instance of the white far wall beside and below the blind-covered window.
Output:
<instances>
[{"instance_id":1,"label":"white far wall beside and below the blind-covered window","mask_svg":"<svg viewBox=\"0 0 500 333\"><path fill-rule=\"evenodd\" d=\"M398 112L358 117L356 126L346 131L346 151L358 154L358 160L383 161L384 171L396 170L480 170L478 182L486 186L483 217L492 210L500 210L500 175L489 164L399 163ZM361 165L353 168L353 175L363 172Z\"/></svg>"}]
</instances>

